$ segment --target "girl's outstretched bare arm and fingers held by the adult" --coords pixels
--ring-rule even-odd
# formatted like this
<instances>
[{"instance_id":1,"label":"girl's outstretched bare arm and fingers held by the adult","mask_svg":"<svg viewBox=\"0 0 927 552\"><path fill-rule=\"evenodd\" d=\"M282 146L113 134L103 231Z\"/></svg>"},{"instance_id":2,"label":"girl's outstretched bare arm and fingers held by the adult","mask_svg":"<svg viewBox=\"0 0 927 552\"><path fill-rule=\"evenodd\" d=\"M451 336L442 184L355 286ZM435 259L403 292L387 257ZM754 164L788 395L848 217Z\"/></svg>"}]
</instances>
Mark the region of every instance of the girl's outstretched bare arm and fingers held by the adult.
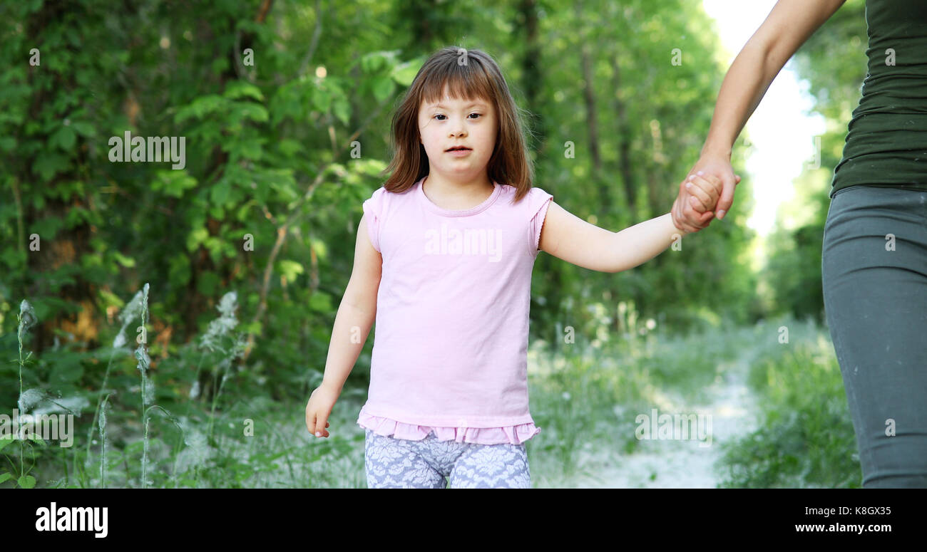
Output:
<instances>
[{"instance_id":1,"label":"girl's outstretched bare arm and fingers held by the adult","mask_svg":"<svg viewBox=\"0 0 927 552\"><path fill-rule=\"evenodd\" d=\"M721 181L692 179L692 205L714 205ZM620 272L648 261L687 233L679 230L667 212L621 232L609 232L578 218L553 201L540 230L540 250L584 269Z\"/></svg>"}]
</instances>

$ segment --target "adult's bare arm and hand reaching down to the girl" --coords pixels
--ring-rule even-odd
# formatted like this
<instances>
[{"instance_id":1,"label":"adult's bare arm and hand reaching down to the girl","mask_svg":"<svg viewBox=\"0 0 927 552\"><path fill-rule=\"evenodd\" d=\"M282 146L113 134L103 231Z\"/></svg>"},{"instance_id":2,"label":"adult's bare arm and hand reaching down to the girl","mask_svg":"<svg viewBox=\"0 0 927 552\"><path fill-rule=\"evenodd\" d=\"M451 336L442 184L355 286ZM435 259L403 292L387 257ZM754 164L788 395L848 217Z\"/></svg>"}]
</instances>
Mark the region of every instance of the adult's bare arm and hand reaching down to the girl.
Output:
<instances>
[{"instance_id":1,"label":"adult's bare arm and hand reaching down to the girl","mask_svg":"<svg viewBox=\"0 0 927 552\"><path fill-rule=\"evenodd\" d=\"M766 94L785 62L799 46L824 24L845 0L779 0L758 30L743 45L730 64L721 90L717 94L715 113L702 148L701 157L689 171L698 170L717 176L724 191L717 206L702 212L690 205L690 193L679 184L679 196L673 204L673 222L687 232L705 228L714 216L723 219L734 200L737 177L730 167L730 150L747 119Z\"/></svg>"}]
</instances>

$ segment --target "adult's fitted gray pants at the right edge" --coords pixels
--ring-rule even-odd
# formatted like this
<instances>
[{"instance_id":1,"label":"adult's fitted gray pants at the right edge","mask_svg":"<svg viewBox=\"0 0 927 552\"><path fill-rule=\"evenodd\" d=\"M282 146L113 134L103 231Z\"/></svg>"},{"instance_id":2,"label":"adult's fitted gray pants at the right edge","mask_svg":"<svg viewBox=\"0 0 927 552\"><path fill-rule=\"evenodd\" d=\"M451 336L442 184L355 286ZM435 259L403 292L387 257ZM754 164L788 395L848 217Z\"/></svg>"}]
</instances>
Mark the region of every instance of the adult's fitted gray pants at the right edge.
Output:
<instances>
[{"instance_id":1,"label":"adult's fitted gray pants at the right edge","mask_svg":"<svg viewBox=\"0 0 927 552\"><path fill-rule=\"evenodd\" d=\"M839 190L821 257L862 485L927 487L927 192Z\"/></svg>"}]
</instances>

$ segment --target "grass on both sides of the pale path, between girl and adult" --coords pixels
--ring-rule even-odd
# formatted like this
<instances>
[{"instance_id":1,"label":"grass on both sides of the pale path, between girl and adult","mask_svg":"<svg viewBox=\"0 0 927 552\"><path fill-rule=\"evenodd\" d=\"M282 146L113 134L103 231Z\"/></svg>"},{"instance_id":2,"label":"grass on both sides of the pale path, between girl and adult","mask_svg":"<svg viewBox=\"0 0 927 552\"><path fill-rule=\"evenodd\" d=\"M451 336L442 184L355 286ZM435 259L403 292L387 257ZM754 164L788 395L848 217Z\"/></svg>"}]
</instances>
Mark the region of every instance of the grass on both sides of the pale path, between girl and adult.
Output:
<instances>
[{"instance_id":1,"label":"grass on both sides of the pale path, between girl and adult","mask_svg":"<svg viewBox=\"0 0 927 552\"><path fill-rule=\"evenodd\" d=\"M782 328L790 332L781 343ZM542 427L529 441L536 486L557 485L633 455L636 413L686 409L735 362L748 367L756 430L720 443L721 487L857 487L861 481L843 380L827 330L789 318L756 326L707 327L690 336L651 334L608 347L552 354L532 349L532 413ZM744 427L748 424L744 423ZM680 483L681 486L681 483Z\"/></svg>"}]
</instances>

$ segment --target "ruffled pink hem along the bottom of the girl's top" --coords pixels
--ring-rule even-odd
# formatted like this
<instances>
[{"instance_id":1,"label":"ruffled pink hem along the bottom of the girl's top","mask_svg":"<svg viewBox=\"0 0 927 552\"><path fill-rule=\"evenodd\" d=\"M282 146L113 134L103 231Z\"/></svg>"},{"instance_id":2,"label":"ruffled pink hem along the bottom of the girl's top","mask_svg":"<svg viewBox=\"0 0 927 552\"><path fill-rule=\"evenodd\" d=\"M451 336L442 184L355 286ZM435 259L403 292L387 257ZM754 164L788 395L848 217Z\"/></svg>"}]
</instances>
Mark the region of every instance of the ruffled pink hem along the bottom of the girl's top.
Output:
<instances>
[{"instance_id":1,"label":"ruffled pink hem along the bottom of the girl's top","mask_svg":"<svg viewBox=\"0 0 927 552\"><path fill-rule=\"evenodd\" d=\"M477 445L501 445L502 443L521 445L540 433L540 428L532 422L502 427L438 427L404 423L362 413L357 423L378 435L392 435L396 439L421 441L434 431L438 441L456 441Z\"/></svg>"}]
</instances>

